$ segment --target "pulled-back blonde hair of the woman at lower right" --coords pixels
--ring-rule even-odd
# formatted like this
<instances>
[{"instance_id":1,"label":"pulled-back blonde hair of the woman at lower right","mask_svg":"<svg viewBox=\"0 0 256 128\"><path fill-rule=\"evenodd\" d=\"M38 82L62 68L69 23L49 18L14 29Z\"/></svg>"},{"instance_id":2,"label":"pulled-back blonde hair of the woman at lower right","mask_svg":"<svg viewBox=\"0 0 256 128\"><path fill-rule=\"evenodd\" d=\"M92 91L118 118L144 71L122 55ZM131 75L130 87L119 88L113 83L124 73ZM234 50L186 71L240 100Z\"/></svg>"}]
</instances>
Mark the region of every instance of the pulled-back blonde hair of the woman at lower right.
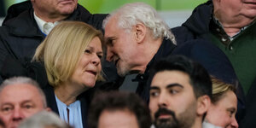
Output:
<instances>
[{"instance_id":1,"label":"pulled-back blonde hair of the woman at lower right","mask_svg":"<svg viewBox=\"0 0 256 128\"><path fill-rule=\"evenodd\" d=\"M234 84L224 83L220 79L211 76L212 79L212 103L216 104L227 91L231 90L236 94L236 86Z\"/></svg>"}]
</instances>

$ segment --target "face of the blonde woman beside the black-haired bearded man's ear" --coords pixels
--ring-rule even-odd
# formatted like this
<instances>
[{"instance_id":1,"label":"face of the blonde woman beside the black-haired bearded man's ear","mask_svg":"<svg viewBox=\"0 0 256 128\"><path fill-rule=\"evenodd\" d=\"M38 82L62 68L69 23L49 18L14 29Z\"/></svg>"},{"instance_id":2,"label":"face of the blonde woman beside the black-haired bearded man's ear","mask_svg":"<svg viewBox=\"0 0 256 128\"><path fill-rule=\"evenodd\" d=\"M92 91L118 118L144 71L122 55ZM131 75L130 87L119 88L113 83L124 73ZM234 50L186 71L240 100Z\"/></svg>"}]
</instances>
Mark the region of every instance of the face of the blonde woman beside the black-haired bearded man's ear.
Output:
<instances>
[{"instance_id":1,"label":"face of the blonde woman beside the black-haired bearded man's ear","mask_svg":"<svg viewBox=\"0 0 256 128\"><path fill-rule=\"evenodd\" d=\"M223 128L238 128L235 117L236 106L236 94L229 90L216 104L211 105L206 119L209 123Z\"/></svg>"}]
</instances>

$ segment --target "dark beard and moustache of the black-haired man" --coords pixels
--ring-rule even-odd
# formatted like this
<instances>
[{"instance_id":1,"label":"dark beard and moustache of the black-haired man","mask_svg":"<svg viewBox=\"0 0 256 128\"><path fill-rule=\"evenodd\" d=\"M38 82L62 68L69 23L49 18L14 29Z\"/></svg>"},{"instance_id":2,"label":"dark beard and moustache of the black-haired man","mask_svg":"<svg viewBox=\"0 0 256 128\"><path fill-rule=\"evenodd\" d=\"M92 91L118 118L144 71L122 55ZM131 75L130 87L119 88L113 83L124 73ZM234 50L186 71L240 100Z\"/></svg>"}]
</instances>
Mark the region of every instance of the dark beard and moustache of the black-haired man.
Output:
<instances>
[{"instance_id":1,"label":"dark beard and moustache of the black-haired man","mask_svg":"<svg viewBox=\"0 0 256 128\"><path fill-rule=\"evenodd\" d=\"M172 117L170 119L158 119L161 114L169 114ZM172 110L159 108L158 111L154 113L154 125L156 128L178 128L179 122Z\"/></svg>"}]
</instances>

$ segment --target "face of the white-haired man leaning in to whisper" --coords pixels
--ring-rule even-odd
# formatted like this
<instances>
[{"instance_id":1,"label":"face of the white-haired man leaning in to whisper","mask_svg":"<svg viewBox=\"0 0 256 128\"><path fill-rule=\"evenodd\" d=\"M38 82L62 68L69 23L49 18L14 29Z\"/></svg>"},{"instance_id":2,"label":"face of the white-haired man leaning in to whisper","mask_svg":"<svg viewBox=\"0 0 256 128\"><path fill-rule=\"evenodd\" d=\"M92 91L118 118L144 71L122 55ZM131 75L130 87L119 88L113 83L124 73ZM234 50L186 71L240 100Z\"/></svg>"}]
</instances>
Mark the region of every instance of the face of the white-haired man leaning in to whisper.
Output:
<instances>
[{"instance_id":1,"label":"face of the white-haired man leaning in to whisper","mask_svg":"<svg viewBox=\"0 0 256 128\"><path fill-rule=\"evenodd\" d=\"M131 32L117 26L117 18L108 20L104 37L107 39L107 61L113 61L119 76L125 76L135 70L137 42Z\"/></svg>"}]
</instances>

